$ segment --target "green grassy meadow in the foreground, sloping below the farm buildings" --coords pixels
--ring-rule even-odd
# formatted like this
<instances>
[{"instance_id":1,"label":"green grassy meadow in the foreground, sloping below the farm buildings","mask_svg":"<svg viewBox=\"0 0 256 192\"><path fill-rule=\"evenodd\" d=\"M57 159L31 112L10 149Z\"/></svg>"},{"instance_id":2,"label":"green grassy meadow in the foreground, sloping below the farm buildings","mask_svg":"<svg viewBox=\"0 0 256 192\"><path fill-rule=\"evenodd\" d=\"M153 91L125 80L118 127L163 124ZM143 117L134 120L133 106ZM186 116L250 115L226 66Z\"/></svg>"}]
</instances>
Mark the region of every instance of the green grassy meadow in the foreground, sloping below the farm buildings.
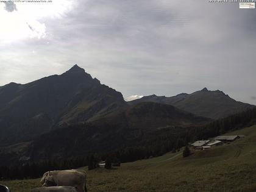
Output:
<instances>
[{"instance_id":1,"label":"green grassy meadow in the foreground, sloping below the farm buildings","mask_svg":"<svg viewBox=\"0 0 256 192\"><path fill-rule=\"evenodd\" d=\"M256 191L256 126L225 135L246 137L186 158L180 151L87 171L88 191ZM29 192L40 187L39 180L0 183L11 192Z\"/></svg>"}]
</instances>

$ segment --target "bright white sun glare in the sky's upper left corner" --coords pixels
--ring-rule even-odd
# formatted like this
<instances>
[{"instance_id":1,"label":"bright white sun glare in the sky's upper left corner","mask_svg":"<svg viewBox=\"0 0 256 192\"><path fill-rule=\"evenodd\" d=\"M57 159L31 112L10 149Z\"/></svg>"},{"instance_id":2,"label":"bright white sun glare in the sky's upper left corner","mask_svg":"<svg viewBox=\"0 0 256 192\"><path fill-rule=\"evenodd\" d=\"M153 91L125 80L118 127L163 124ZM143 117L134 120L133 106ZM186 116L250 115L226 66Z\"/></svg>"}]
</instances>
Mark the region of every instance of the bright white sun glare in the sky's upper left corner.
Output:
<instances>
[{"instance_id":1,"label":"bright white sun glare in the sky's upper left corner","mask_svg":"<svg viewBox=\"0 0 256 192\"><path fill-rule=\"evenodd\" d=\"M0 3L0 42L12 43L26 38L47 36L46 19L60 18L73 7L73 1L16 2L16 10L8 12Z\"/></svg>"}]
</instances>

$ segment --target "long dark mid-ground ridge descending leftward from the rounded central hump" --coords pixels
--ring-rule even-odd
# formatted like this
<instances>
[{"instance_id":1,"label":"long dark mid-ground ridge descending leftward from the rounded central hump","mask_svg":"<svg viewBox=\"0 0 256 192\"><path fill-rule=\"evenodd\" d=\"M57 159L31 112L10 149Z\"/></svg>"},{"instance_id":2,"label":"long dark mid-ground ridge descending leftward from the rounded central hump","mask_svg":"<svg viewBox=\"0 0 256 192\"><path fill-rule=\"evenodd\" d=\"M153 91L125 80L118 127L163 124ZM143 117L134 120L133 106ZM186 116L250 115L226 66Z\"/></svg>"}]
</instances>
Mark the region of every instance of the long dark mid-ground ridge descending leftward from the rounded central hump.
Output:
<instances>
[{"instance_id":1,"label":"long dark mid-ground ridge descending leftward from the rounded central hump","mask_svg":"<svg viewBox=\"0 0 256 192\"><path fill-rule=\"evenodd\" d=\"M157 130L165 127L177 127L176 131L180 132L182 127L209 121L210 119L182 112L171 105L145 102L122 108L86 124L74 124L44 133L35 138L20 156L38 162L115 151L150 140L152 133L157 138Z\"/></svg>"}]
</instances>

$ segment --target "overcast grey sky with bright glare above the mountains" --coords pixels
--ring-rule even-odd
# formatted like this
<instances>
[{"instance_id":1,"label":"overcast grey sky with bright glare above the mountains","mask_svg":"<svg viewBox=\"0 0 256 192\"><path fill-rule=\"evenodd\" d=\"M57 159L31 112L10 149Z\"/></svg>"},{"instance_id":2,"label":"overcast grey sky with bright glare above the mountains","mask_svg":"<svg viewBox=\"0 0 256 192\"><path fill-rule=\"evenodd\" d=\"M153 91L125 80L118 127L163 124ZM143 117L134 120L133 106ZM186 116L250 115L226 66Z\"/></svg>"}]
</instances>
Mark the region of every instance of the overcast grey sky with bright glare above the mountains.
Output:
<instances>
[{"instance_id":1,"label":"overcast grey sky with bright glare above the mountains","mask_svg":"<svg viewBox=\"0 0 256 192\"><path fill-rule=\"evenodd\" d=\"M255 21L235 2L0 2L0 86L77 64L124 98L207 87L256 104Z\"/></svg>"}]
</instances>

